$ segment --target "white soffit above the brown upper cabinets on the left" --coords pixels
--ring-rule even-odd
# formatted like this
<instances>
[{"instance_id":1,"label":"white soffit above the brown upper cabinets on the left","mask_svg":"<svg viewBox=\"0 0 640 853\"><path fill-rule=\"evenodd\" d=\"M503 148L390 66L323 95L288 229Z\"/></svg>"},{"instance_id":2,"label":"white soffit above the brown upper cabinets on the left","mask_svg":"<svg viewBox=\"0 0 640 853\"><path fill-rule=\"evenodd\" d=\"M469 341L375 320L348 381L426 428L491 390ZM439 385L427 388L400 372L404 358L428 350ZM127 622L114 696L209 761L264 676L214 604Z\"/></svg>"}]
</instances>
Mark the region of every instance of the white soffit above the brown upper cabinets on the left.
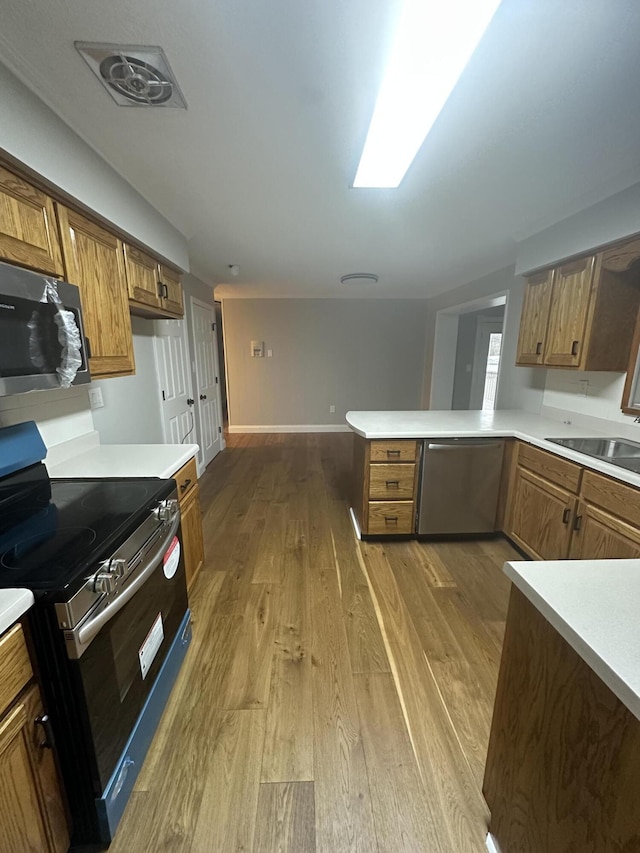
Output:
<instances>
[{"instance_id":1,"label":"white soffit above the brown upper cabinets on the left","mask_svg":"<svg viewBox=\"0 0 640 853\"><path fill-rule=\"evenodd\" d=\"M39 98L0 64L0 149L189 269L186 239Z\"/></svg>"}]
</instances>

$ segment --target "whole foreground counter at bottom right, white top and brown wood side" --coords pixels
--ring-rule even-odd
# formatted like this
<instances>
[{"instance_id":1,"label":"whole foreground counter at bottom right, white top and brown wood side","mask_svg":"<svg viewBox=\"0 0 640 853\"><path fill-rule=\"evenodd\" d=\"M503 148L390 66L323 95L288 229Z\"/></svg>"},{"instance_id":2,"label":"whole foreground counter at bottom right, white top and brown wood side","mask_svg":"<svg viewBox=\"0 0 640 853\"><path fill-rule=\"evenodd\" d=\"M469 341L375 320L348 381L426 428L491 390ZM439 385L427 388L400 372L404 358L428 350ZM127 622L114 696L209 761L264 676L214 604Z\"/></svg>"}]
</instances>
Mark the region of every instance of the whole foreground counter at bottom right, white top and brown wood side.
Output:
<instances>
[{"instance_id":1,"label":"whole foreground counter at bottom right, white top and brown wood side","mask_svg":"<svg viewBox=\"0 0 640 853\"><path fill-rule=\"evenodd\" d=\"M640 560L514 562L483 792L502 853L640 847Z\"/></svg>"}]
</instances>

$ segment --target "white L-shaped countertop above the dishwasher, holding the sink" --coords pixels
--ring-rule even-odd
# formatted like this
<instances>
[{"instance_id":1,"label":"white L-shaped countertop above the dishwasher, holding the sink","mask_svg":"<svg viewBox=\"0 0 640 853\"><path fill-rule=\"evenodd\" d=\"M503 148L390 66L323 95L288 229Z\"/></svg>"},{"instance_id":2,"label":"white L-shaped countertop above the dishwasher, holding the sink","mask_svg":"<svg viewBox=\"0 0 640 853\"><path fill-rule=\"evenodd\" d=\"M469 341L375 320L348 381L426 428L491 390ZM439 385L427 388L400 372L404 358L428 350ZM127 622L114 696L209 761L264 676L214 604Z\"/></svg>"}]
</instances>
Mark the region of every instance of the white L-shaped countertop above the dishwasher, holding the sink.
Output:
<instances>
[{"instance_id":1,"label":"white L-shaped countertop above the dishwasher, holding the sink","mask_svg":"<svg viewBox=\"0 0 640 853\"><path fill-rule=\"evenodd\" d=\"M543 450L570 459L585 468L600 471L624 483L640 488L640 474L577 453L548 438L605 437L605 433L584 427L565 424L521 410L497 411L415 411L415 412L347 412L347 423L363 438L518 438ZM606 437L615 437L612 424ZM638 430L640 441L640 430Z\"/></svg>"}]
</instances>

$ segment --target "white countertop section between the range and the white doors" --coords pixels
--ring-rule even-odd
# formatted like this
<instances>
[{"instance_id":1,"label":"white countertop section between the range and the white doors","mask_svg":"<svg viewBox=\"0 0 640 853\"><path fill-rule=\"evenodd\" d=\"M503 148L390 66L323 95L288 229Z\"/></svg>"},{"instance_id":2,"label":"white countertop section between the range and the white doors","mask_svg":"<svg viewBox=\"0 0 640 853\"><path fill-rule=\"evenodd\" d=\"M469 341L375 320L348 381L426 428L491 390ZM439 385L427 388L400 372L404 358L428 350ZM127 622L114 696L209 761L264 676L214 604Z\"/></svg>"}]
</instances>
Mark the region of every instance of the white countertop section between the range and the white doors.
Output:
<instances>
[{"instance_id":1,"label":"white countertop section between the range and the white doors","mask_svg":"<svg viewBox=\"0 0 640 853\"><path fill-rule=\"evenodd\" d=\"M161 477L198 452L197 444L98 444L64 461L45 460L50 477Z\"/></svg>"}]
</instances>

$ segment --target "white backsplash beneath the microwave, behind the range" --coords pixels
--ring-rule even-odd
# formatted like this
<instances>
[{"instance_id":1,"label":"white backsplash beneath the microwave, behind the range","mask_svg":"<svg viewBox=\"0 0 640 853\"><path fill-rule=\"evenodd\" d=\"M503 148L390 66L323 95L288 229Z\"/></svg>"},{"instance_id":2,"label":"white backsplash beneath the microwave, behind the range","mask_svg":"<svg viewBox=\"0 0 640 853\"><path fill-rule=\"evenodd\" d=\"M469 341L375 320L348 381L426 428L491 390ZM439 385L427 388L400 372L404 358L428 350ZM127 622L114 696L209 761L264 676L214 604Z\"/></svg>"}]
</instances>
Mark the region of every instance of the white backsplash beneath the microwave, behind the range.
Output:
<instances>
[{"instance_id":1,"label":"white backsplash beneath the microwave, behind the range","mask_svg":"<svg viewBox=\"0 0 640 853\"><path fill-rule=\"evenodd\" d=\"M47 447L93 431L84 388L59 388L0 397L0 426L35 421Z\"/></svg>"}]
</instances>

